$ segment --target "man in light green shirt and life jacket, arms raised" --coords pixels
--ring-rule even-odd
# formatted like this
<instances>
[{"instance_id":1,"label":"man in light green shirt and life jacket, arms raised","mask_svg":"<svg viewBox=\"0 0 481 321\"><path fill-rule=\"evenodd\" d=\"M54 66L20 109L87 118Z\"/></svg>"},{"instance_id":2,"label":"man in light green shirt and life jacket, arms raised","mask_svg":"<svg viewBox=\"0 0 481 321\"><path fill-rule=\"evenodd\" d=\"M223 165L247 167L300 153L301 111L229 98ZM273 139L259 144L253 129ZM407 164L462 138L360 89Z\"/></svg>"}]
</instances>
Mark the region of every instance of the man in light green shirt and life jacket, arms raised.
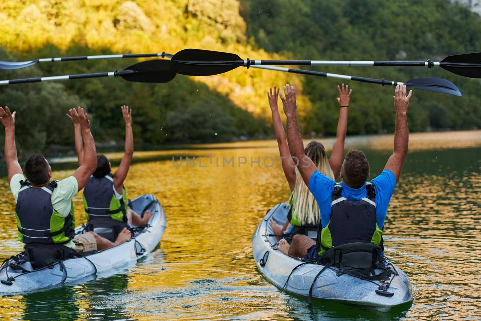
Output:
<instances>
[{"instance_id":1,"label":"man in light green shirt and life jacket, arms raised","mask_svg":"<svg viewBox=\"0 0 481 321\"><path fill-rule=\"evenodd\" d=\"M0 122L5 127L5 160L13 198L19 241L25 244L62 244L77 252L104 250L130 239L130 231L122 231L112 243L95 232L75 236L75 216L72 198L84 188L97 167L95 143L90 132L90 121L83 108L70 109L79 120L84 142L84 163L72 176L51 181L51 167L41 154L32 154L20 167L15 147L15 114L8 107L0 107ZM27 180L24 178L25 177Z\"/></svg>"}]
</instances>

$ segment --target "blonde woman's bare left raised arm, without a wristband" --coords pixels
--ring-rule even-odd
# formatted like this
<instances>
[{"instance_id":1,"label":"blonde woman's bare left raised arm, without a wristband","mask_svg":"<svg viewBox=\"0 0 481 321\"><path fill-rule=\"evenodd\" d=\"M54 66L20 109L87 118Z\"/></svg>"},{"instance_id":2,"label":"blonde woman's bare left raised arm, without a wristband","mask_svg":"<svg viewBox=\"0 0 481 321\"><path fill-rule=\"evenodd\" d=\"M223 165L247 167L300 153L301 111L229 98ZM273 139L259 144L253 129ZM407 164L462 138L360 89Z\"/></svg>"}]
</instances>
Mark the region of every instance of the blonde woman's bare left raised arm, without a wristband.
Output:
<instances>
[{"instance_id":1,"label":"blonde woman's bare left raised arm, without a wristband","mask_svg":"<svg viewBox=\"0 0 481 321\"><path fill-rule=\"evenodd\" d=\"M274 92L272 87L269 92L267 92L267 98L269 99L269 106L272 113L272 125L274 126L274 132L276 133L277 145L279 147L280 161L282 163L282 169L284 170L284 175L289 183L289 188L291 192L294 191L296 186L296 173L294 171L294 166L289 165L289 159L291 158L291 152L289 152L289 146L287 145L286 132L280 121L279 110L277 107L277 98L279 96L280 88L274 86Z\"/></svg>"}]
</instances>

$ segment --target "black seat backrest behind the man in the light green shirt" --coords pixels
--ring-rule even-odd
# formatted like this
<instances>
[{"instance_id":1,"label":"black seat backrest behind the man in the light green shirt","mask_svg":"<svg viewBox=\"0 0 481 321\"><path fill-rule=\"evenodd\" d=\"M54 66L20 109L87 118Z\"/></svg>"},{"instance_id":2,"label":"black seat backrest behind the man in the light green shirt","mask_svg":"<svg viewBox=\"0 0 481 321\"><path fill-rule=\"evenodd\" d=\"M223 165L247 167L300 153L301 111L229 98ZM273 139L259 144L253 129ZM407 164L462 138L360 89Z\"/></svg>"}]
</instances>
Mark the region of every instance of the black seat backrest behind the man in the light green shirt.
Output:
<instances>
[{"instance_id":1,"label":"black seat backrest behind the man in the light green shirt","mask_svg":"<svg viewBox=\"0 0 481 321\"><path fill-rule=\"evenodd\" d=\"M55 261L72 258L75 255L76 252L73 249L61 244L25 244L25 260L30 261L34 269L43 268Z\"/></svg>"}]
</instances>

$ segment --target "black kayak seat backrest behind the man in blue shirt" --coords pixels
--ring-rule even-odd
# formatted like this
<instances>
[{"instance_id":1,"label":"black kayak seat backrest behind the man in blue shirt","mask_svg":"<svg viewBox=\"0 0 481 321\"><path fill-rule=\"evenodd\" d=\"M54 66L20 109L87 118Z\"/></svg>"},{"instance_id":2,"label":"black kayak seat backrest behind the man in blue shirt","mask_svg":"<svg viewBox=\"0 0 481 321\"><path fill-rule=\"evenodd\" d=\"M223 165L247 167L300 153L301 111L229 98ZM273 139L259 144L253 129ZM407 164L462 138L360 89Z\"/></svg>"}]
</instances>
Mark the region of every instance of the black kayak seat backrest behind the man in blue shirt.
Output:
<instances>
[{"instance_id":1,"label":"black kayak seat backrest behind the man in blue shirt","mask_svg":"<svg viewBox=\"0 0 481 321\"><path fill-rule=\"evenodd\" d=\"M321 261L333 264L344 270L370 270L377 266L381 257L379 245L365 242L354 242L338 245L323 253Z\"/></svg>"}]
</instances>

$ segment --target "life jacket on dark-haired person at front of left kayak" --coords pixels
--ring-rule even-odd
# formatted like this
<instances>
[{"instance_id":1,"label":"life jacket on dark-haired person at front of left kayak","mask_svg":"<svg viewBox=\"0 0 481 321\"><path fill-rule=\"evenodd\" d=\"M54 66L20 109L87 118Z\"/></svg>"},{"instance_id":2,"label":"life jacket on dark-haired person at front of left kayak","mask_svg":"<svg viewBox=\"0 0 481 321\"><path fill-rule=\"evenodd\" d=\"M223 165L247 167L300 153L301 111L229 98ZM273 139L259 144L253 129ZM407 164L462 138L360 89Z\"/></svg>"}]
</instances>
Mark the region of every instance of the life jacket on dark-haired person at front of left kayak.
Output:
<instances>
[{"instance_id":1,"label":"life jacket on dark-haired person at front of left kayak","mask_svg":"<svg viewBox=\"0 0 481 321\"><path fill-rule=\"evenodd\" d=\"M83 200L88 219L84 231L94 231L115 242L120 231L128 228L127 192L122 186L122 199L115 196L112 174L102 178L90 176L84 187Z\"/></svg>"}]
</instances>

